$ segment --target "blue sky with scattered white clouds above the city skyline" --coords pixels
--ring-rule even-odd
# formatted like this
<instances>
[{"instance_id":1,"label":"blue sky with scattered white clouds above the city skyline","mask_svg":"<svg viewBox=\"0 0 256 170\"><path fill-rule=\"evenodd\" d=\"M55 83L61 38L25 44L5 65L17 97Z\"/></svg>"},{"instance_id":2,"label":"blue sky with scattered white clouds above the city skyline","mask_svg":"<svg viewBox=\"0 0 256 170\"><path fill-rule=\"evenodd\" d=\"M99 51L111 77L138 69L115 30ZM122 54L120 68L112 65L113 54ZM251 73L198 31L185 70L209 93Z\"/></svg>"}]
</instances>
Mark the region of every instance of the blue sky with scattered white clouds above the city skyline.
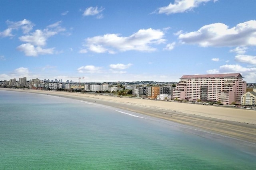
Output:
<instances>
[{"instance_id":1,"label":"blue sky with scattered white clouds above the city skyline","mask_svg":"<svg viewBox=\"0 0 256 170\"><path fill-rule=\"evenodd\" d=\"M0 0L0 80L256 82L255 0Z\"/></svg>"}]
</instances>

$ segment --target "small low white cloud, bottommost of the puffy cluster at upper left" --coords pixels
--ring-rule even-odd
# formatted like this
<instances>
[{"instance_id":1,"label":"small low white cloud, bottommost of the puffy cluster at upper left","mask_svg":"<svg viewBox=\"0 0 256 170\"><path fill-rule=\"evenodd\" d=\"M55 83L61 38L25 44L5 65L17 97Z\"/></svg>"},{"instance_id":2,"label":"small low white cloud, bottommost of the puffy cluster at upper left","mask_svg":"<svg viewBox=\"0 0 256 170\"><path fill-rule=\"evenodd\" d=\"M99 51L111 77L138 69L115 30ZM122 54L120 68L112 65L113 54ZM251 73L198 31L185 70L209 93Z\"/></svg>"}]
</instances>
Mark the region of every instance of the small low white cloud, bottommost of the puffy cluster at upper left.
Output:
<instances>
[{"instance_id":1,"label":"small low white cloud, bottommost of the puffy cluster at upper left","mask_svg":"<svg viewBox=\"0 0 256 170\"><path fill-rule=\"evenodd\" d=\"M24 51L26 56L33 56L36 57L38 55L45 55L45 54L53 54L54 48L50 49L42 49L41 47L34 47L34 45L30 43L22 44L17 47L19 51Z\"/></svg>"}]
</instances>

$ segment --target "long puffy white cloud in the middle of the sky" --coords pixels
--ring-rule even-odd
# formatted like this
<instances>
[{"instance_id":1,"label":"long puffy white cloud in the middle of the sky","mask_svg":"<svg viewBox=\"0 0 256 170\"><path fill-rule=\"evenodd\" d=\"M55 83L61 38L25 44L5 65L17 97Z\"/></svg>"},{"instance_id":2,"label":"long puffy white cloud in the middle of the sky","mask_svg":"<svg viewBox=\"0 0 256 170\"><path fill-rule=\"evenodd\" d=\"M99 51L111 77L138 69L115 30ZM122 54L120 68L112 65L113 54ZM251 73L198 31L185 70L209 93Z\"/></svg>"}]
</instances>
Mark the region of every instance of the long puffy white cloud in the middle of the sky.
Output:
<instances>
[{"instance_id":1,"label":"long puffy white cloud in the middle of the sky","mask_svg":"<svg viewBox=\"0 0 256 170\"><path fill-rule=\"evenodd\" d=\"M84 44L88 50L95 53L116 53L116 51L144 51L150 52L156 49L151 47L153 44L164 43L164 32L158 29L140 29L138 32L121 37L119 34L105 34L87 38Z\"/></svg>"}]
</instances>

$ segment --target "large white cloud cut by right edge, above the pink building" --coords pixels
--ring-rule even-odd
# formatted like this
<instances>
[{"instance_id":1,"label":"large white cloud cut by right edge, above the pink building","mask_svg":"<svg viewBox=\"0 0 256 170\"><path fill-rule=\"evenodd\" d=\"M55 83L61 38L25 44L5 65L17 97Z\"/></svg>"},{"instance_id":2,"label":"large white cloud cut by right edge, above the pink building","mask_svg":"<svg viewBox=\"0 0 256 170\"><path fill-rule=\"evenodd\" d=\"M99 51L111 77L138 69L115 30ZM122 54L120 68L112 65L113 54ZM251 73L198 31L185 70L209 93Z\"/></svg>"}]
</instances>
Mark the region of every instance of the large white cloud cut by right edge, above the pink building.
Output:
<instances>
[{"instance_id":1,"label":"large white cloud cut by right edge, above the pink building","mask_svg":"<svg viewBox=\"0 0 256 170\"><path fill-rule=\"evenodd\" d=\"M228 28L223 23L205 25L198 31L181 33L182 43L198 44L202 47L234 47L256 45L256 20L239 23Z\"/></svg>"}]
</instances>

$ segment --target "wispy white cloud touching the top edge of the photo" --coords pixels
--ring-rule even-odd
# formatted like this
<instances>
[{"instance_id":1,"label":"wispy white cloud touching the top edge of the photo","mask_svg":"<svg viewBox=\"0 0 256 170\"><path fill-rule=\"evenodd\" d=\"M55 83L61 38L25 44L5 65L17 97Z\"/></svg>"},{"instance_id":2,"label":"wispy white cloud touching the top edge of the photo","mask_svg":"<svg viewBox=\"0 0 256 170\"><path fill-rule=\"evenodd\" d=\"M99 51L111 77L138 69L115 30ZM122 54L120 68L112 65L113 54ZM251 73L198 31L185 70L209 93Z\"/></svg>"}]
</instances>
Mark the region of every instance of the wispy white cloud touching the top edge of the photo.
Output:
<instances>
[{"instance_id":1,"label":"wispy white cloud touching the top edge of the photo","mask_svg":"<svg viewBox=\"0 0 256 170\"><path fill-rule=\"evenodd\" d=\"M159 14L175 14L190 11L193 8L198 7L203 2L210 0L175 0L174 3L170 3L168 6L158 8L157 13Z\"/></svg>"}]
</instances>

